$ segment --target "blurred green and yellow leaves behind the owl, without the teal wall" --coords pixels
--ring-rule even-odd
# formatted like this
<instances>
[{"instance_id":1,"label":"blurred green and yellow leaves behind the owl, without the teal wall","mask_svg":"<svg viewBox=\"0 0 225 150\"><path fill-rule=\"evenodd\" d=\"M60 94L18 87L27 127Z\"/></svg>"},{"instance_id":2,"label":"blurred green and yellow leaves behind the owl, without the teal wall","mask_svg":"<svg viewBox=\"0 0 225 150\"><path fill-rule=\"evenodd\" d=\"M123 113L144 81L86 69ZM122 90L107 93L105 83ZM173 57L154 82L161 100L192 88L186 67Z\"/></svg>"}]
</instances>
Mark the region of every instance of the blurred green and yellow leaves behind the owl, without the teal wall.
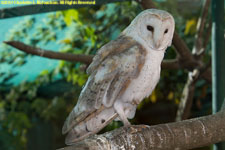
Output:
<instances>
[{"instance_id":1,"label":"blurred green and yellow leaves behind the owl, without the teal wall","mask_svg":"<svg viewBox=\"0 0 225 150\"><path fill-rule=\"evenodd\" d=\"M194 42L193 34L196 32L196 22L191 21L195 18L182 18L176 11L175 4L176 1L173 0L159 6L166 10L173 6L171 12L175 16L176 28L191 47ZM95 54L106 42L118 37L140 11L141 8L136 2L123 2L50 13L41 23L38 23L35 17L29 17L16 24L6 40L19 40L42 47L56 43L61 52ZM0 149L26 149L26 135L29 129L35 126L35 119L54 123L57 132L55 134L61 137L62 123L75 105L80 89L87 80L88 76L83 69L86 66L59 61L53 70L43 70L34 81L13 85L10 79L17 74L14 68L24 66L27 60L34 56L18 52L6 45L2 49L4 50L0 51L0 65L10 66L11 69L8 72L0 72ZM172 47L167 50L166 58L175 58L173 49ZM156 90L139 105L138 111L143 110L146 104L162 100L176 105L181 97L186 76L187 72L183 70L162 71ZM57 92L52 94L49 85L59 79L66 82L62 87L56 86ZM72 83L73 88L63 90L68 83ZM202 87L205 94L201 94ZM47 95L41 92L43 88L48 91ZM199 92L196 92L199 101L210 93L208 88L206 83L199 83ZM63 94L58 94L60 90ZM105 130L120 125L114 122Z\"/></svg>"}]
</instances>

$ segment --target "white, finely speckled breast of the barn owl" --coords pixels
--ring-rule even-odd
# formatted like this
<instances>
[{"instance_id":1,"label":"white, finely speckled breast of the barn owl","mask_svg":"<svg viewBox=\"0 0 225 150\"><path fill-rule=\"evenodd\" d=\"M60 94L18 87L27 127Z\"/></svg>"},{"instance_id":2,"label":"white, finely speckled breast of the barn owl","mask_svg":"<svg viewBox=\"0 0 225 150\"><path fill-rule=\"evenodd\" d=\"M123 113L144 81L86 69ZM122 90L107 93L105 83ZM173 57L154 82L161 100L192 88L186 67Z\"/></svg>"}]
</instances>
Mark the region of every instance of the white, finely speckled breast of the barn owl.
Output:
<instances>
[{"instance_id":1,"label":"white, finely speckled breast of the barn owl","mask_svg":"<svg viewBox=\"0 0 225 150\"><path fill-rule=\"evenodd\" d=\"M133 79L122 96L124 102L138 100L139 102L149 96L160 78L160 66L163 59L163 51L148 51L145 64L140 75Z\"/></svg>"}]
</instances>

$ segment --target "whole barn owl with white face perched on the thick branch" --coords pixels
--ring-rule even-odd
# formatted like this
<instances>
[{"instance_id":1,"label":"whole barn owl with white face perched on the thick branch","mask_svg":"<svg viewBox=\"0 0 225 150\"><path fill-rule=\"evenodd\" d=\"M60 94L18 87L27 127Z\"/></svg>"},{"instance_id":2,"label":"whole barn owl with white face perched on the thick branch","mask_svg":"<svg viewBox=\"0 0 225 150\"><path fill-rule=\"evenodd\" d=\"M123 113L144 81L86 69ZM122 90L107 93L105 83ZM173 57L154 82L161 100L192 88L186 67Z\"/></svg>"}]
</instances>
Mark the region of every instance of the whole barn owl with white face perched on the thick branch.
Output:
<instances>
[{"instance_id":1,"label":"whole barn owl with white face perched on the thick branch","mask_svg":"<svg viewBox=\"0 0 225 150\"><path fill-rule=\"evenodd\" d=\"M137 105L159 81L174 27L168 12L148 9L116 40L100 48L87 69L90 76L78 102L64 123L67 145L97 133L112 120L130 125L128 119L134 117Z\"/></svg>"}]
</instances>

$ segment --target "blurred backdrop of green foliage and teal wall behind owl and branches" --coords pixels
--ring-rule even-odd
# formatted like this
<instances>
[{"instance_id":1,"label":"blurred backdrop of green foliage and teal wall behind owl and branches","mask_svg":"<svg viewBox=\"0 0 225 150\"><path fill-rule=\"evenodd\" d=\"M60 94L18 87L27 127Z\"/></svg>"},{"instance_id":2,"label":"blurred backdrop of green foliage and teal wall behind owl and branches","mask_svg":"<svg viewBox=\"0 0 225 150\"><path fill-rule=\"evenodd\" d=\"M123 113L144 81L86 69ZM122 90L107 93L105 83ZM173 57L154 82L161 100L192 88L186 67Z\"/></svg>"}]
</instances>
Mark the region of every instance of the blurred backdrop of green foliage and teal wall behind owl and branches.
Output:
<instances>
[{"instance_id":1,"label":"blurred backdrop of green foliage and teal wall behind owl and branches","mask_svg":"<svg viewBox=\"0 0 225 150\"><path fill-rule=\"evenodd\" d=\"M157 0L155 4L174 16L176 31L192 48L202 1ZM95 54L117 38L141 11L141 6L131 1L0 20L0 149L64 147L63 122L88 77L84 64L27 55L3 41L18 40L65 53ZM175 57L174 47L168 48L165 59ZM209 42L205 61L210 57ZM138 106L131 122L153 125L175 121L187 73L162 70L156 89ZM211 84L199 80L191 117L210 114L211 98ZM101 132L121 125L113 122Z\"/></svg>"}]
</instances>

